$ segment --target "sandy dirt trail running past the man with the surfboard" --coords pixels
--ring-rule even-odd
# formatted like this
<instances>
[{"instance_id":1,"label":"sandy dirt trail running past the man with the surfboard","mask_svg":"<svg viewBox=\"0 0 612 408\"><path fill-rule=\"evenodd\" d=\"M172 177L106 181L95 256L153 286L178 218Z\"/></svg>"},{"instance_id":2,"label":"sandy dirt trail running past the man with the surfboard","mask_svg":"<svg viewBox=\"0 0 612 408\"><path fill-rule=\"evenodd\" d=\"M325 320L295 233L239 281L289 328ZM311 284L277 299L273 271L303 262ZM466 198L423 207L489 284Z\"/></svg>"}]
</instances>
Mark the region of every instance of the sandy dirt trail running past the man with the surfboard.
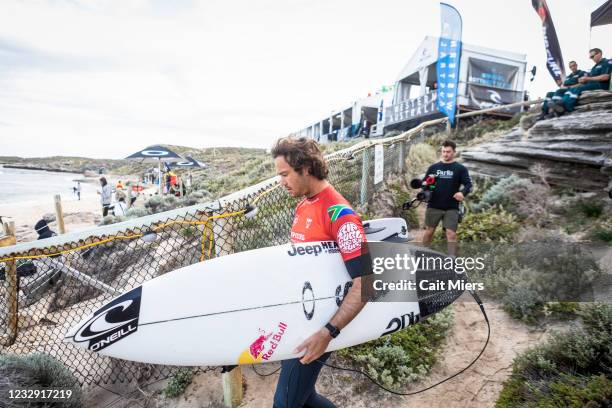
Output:
<instances>
[{"instance_id":1,"label":"sandy dirt trail running past the man with the surfboard","mask_svg":"<svg viewBox=\"0 0 612 408\"><path fill-rule=\"evenodd\" d=\"M486 305L491 321L491 340L487 350L468 371L422 394L398 397L379 391L352 376L324 368L318 391L328 396L339 407L492 407L502 383L511 372L514 357L545 336L543 330L530 329L513 321L499 306ZM410 390L418 390L440 381L467 366L478 355L486 339L484 318L469 295L454 305L455 324L447 337L439 363L427 379ZM259 366L262 373L271 372L277 365ZM250 367L243 367L246 383L244 408L269 408L276 386L277 374L257 376ZM221 378L218 372L198 375L177 399L166 400L164 406L176 408L221 407Z\"/></svg>"}]
</instances>

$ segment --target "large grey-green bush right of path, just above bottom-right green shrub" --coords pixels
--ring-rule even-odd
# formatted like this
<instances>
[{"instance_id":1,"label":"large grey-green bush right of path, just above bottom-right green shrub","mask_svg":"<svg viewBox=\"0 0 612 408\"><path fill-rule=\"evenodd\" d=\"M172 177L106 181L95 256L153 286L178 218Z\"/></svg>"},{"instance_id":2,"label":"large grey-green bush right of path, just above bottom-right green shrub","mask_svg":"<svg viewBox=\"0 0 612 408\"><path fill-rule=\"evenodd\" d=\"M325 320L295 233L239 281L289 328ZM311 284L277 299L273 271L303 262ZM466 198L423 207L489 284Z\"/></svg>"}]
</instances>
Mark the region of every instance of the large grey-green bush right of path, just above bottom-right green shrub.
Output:
<instances>
[{"instance_id":1,"label":"large grey-green bush right of path, just above bottom-right green shrub","mask_svg":"<svg viewBox=\"0 0 612 408\"><path fill-rule=\"evenodd\" d=\"M589 293L602 274L588 250L554 235L476 250L475 256L486 259L485 269L473 270L472 278L484 284L487 297L501 300L506 312L528 324L571 317L576 309L571 302Z\"/></svg>"}]
</instances>

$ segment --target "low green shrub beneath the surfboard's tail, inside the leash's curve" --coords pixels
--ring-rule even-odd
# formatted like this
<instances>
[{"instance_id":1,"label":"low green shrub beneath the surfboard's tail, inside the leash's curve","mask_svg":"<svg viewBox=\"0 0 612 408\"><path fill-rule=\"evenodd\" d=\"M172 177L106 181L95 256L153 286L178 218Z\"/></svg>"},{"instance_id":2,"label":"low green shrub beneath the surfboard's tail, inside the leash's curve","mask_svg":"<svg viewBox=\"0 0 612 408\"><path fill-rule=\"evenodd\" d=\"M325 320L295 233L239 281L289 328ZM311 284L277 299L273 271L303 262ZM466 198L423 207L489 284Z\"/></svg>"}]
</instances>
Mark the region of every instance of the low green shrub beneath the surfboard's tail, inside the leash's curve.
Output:
<instances>
[{"instance_id":1,"label":"low green shrub beneath the surfboard's tail, inside the leash's curve","mask_svg":"<svg viewBox=\"0 0 612 408\"><path fill-rule=\"evenodd\" d=\"M385 387L397 388L423 378L436 363L453 324L450 309L389 336L337 352Z\"/></svg>"}]
</instances>

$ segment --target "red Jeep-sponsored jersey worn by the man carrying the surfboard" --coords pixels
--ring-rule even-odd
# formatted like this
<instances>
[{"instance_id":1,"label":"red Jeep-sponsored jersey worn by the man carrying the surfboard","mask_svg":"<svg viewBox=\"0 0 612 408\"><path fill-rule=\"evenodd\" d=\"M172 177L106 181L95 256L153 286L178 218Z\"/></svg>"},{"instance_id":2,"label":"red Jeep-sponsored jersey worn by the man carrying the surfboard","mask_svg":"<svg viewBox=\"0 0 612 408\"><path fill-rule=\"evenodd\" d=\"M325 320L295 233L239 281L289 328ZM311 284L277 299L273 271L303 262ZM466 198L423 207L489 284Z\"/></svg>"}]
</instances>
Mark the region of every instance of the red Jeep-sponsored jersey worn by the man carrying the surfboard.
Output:
<instances>
[{"instance_id":1,"label":"red Jeep-sponsored jersey worn by the man carrying the surfboard","mask_svg":"<svg viewBox=\"0 0 612 408\"><path fill-rule=\"evenodd\" d=\"M312 241L335 241L353 276L348 262L361 256L366 236L357 213L331 185L314 197L305 198L295 209L291 242Z\"/></svg>"}]
</instances>

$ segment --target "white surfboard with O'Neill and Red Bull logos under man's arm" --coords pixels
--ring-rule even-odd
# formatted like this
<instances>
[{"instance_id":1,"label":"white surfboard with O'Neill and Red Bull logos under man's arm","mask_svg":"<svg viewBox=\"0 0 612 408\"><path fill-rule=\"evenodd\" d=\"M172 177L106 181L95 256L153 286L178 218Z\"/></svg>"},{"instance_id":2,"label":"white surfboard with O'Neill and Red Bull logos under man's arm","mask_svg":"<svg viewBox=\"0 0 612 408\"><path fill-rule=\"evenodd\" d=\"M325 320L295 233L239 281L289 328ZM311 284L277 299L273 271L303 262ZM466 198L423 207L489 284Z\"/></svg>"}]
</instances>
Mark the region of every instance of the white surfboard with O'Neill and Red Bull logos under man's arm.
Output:
<instances>
[{"instance_id":1,"label":"white surfboard with O'Neill and Red Bull logos under man's arm","mask_svg":"<svg viewBox=\"0 0 612 408\"><path fill-rule=\"evenodd\" d=\"M413 276L415 281L425 279L418 272ZM435 279L435 272L428 271L426 278ZM295 347L336 313L350 284L334 242L246 251L145 282L87 316L68 331L65 341L153 364L210 366L294 358ZM460 294L418 299L414 292L412 302L369 302L328 351L415 324Z\"/></svg>"}]
</instances>

